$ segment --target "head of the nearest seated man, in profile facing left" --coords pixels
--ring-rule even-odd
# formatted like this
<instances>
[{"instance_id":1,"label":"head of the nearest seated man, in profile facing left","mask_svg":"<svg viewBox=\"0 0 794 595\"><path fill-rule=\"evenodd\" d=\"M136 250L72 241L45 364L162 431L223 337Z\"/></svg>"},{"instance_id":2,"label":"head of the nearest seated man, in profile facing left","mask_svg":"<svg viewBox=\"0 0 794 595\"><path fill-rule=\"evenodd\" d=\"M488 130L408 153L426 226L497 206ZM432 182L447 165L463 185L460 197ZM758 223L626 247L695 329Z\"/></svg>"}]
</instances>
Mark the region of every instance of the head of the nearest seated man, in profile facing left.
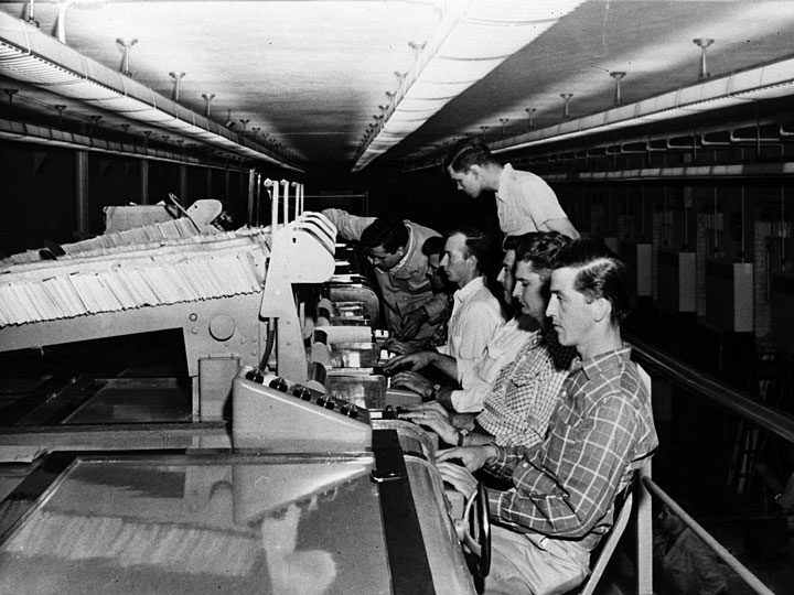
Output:
<instances>
[{"instance_id":1,"label":"head of the nearest seated man, in profile facing left","mask_svg":"<svg viewBox=\"0 0 794 595\"><path fill-rule=\"evenodd\" d=\"M554 321L560 344L581 353L582 346L592 346L604 332L620 329L634 301L629 269L603 244L576 240L557 256L546 314Z\"/></svg>"}]
</instances>

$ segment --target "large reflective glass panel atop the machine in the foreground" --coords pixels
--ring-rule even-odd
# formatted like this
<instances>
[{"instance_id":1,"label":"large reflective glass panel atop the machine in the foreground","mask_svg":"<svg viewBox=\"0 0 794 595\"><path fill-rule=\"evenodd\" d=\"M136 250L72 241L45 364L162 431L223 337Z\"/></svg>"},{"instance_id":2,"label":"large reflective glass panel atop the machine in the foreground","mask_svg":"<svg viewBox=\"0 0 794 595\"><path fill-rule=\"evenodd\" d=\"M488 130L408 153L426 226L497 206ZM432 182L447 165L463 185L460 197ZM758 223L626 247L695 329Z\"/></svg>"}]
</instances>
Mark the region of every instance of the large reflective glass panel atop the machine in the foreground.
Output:
<instances>
[{"instance_id":1,"label":"large reflective glass panel atop the machine in the foreground","mask_svg":"<svg viewBox=\"0 0 794 595\"><path fill-rule=\"evenodd\" d=\"M0 593L387 594L371 467L78 462L0 548Z\"/></svg>"}]
</instances>

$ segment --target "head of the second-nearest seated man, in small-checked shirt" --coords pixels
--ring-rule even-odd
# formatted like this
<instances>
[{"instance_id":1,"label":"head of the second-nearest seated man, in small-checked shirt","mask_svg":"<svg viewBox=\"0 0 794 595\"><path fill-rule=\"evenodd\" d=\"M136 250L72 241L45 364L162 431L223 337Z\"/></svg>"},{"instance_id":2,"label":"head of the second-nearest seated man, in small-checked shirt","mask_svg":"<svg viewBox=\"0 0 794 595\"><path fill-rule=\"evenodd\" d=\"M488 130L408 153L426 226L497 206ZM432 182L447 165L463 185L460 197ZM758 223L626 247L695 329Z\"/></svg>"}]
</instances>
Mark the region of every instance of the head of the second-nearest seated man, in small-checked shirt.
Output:
<instances>
[{"instance_id":1,"label":"head of the second-nearest seated man, in small-checked shirt","mask_svg":"<svg viewBox=\"0 0 794 595\"><path fill-rule=\"evenodd\" d=\"M557 266L557 256L570 242L570 238L557 231L533 232L522 236L515 250L513 295L521 303L522 312L538 323L546 321L551 271Z\"/></svg>"}]
</instances>

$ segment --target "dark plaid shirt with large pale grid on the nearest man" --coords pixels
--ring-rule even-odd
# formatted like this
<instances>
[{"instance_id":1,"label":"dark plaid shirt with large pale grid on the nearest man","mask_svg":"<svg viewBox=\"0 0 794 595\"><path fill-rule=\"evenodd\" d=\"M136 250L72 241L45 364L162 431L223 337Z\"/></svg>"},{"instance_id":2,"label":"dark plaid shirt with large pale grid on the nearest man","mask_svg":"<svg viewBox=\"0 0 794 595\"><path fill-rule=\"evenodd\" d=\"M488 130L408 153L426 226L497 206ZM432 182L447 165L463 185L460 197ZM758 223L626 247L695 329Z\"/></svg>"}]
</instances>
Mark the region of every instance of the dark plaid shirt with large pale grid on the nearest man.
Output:
<instances>
[{"instance_id":1,"label":"dark plaid shirt with large pale grid on the nearest man","mask_svg":"<svg viewBox=\"0 0 794 595\"><path fill-rule=\"evenodd\" d=\"M658 444L651 398L631 348L581 363L562 387L545 442L534 450L497 447L491 470L515 488L489 490L491 515L518 532L578 541L592 550L613 522L630 463Z\"/></svg>"}]
</instances>

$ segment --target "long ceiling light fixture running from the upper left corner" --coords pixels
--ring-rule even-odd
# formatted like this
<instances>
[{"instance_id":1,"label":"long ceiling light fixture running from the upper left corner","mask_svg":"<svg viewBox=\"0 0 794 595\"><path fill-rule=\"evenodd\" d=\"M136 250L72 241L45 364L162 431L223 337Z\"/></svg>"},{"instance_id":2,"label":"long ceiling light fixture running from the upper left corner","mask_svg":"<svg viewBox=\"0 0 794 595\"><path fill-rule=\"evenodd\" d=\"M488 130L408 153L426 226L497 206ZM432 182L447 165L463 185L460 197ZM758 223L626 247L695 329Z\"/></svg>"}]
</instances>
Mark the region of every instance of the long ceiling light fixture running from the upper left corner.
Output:
<instances>
[{"instance_id":1,"label":"long ceiling light fixture running from the upper left corner","mask_svg":"<svg viewBox=\"0 0 794 595\"><path fill-rule=\"evenodd\" d=\"M264 147L2 12L0 74L247 159L303 171Z\"/></svg>"}]
</instances>

